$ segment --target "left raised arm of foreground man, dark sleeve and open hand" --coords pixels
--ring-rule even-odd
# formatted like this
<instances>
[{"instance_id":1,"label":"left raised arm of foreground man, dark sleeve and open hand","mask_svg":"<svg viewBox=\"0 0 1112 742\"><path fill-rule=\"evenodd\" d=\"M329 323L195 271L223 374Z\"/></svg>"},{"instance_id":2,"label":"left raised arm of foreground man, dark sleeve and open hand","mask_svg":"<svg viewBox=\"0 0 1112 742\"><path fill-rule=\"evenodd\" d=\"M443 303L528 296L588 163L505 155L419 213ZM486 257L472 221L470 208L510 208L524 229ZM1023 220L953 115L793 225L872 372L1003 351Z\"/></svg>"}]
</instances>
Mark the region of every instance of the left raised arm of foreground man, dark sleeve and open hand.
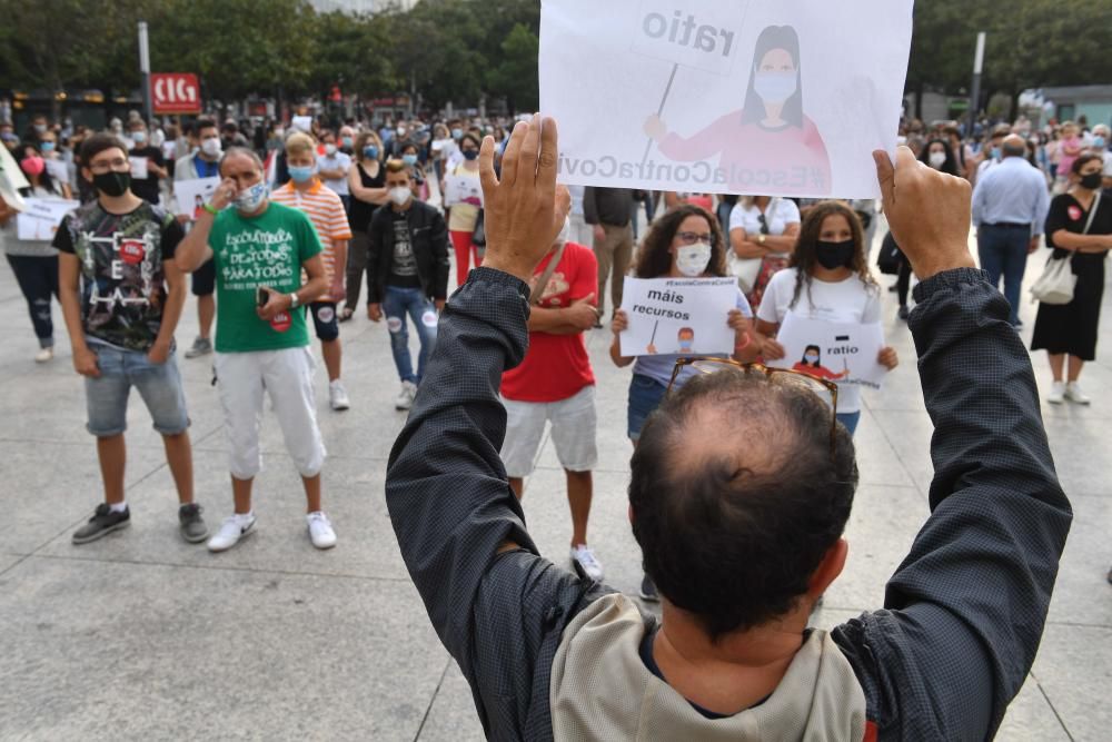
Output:
<instances>
[{"instance_id":1,"label":"left raised arm of foreground man, dark sleeve and open hand","mask_svg":"<svg viewBox=\"0 0 1112 742\"><path fill-rule=\"evenodd\" d=\"M497 719L486 709L505 709L515 684L547 687L549 667L537 656L555 651L592 590L537 554L498 456L506 434L502 374L520 363L528 338L526 279L570 207L564 190L554 208L555 122L545 121L543 149L540 128L539 118L518 123L500 184L494 139L483 142L486 261L441 315L436 353L386 478L406 567L494 739L527 739L529 709Z\"/></svg>"}]
</instances>

